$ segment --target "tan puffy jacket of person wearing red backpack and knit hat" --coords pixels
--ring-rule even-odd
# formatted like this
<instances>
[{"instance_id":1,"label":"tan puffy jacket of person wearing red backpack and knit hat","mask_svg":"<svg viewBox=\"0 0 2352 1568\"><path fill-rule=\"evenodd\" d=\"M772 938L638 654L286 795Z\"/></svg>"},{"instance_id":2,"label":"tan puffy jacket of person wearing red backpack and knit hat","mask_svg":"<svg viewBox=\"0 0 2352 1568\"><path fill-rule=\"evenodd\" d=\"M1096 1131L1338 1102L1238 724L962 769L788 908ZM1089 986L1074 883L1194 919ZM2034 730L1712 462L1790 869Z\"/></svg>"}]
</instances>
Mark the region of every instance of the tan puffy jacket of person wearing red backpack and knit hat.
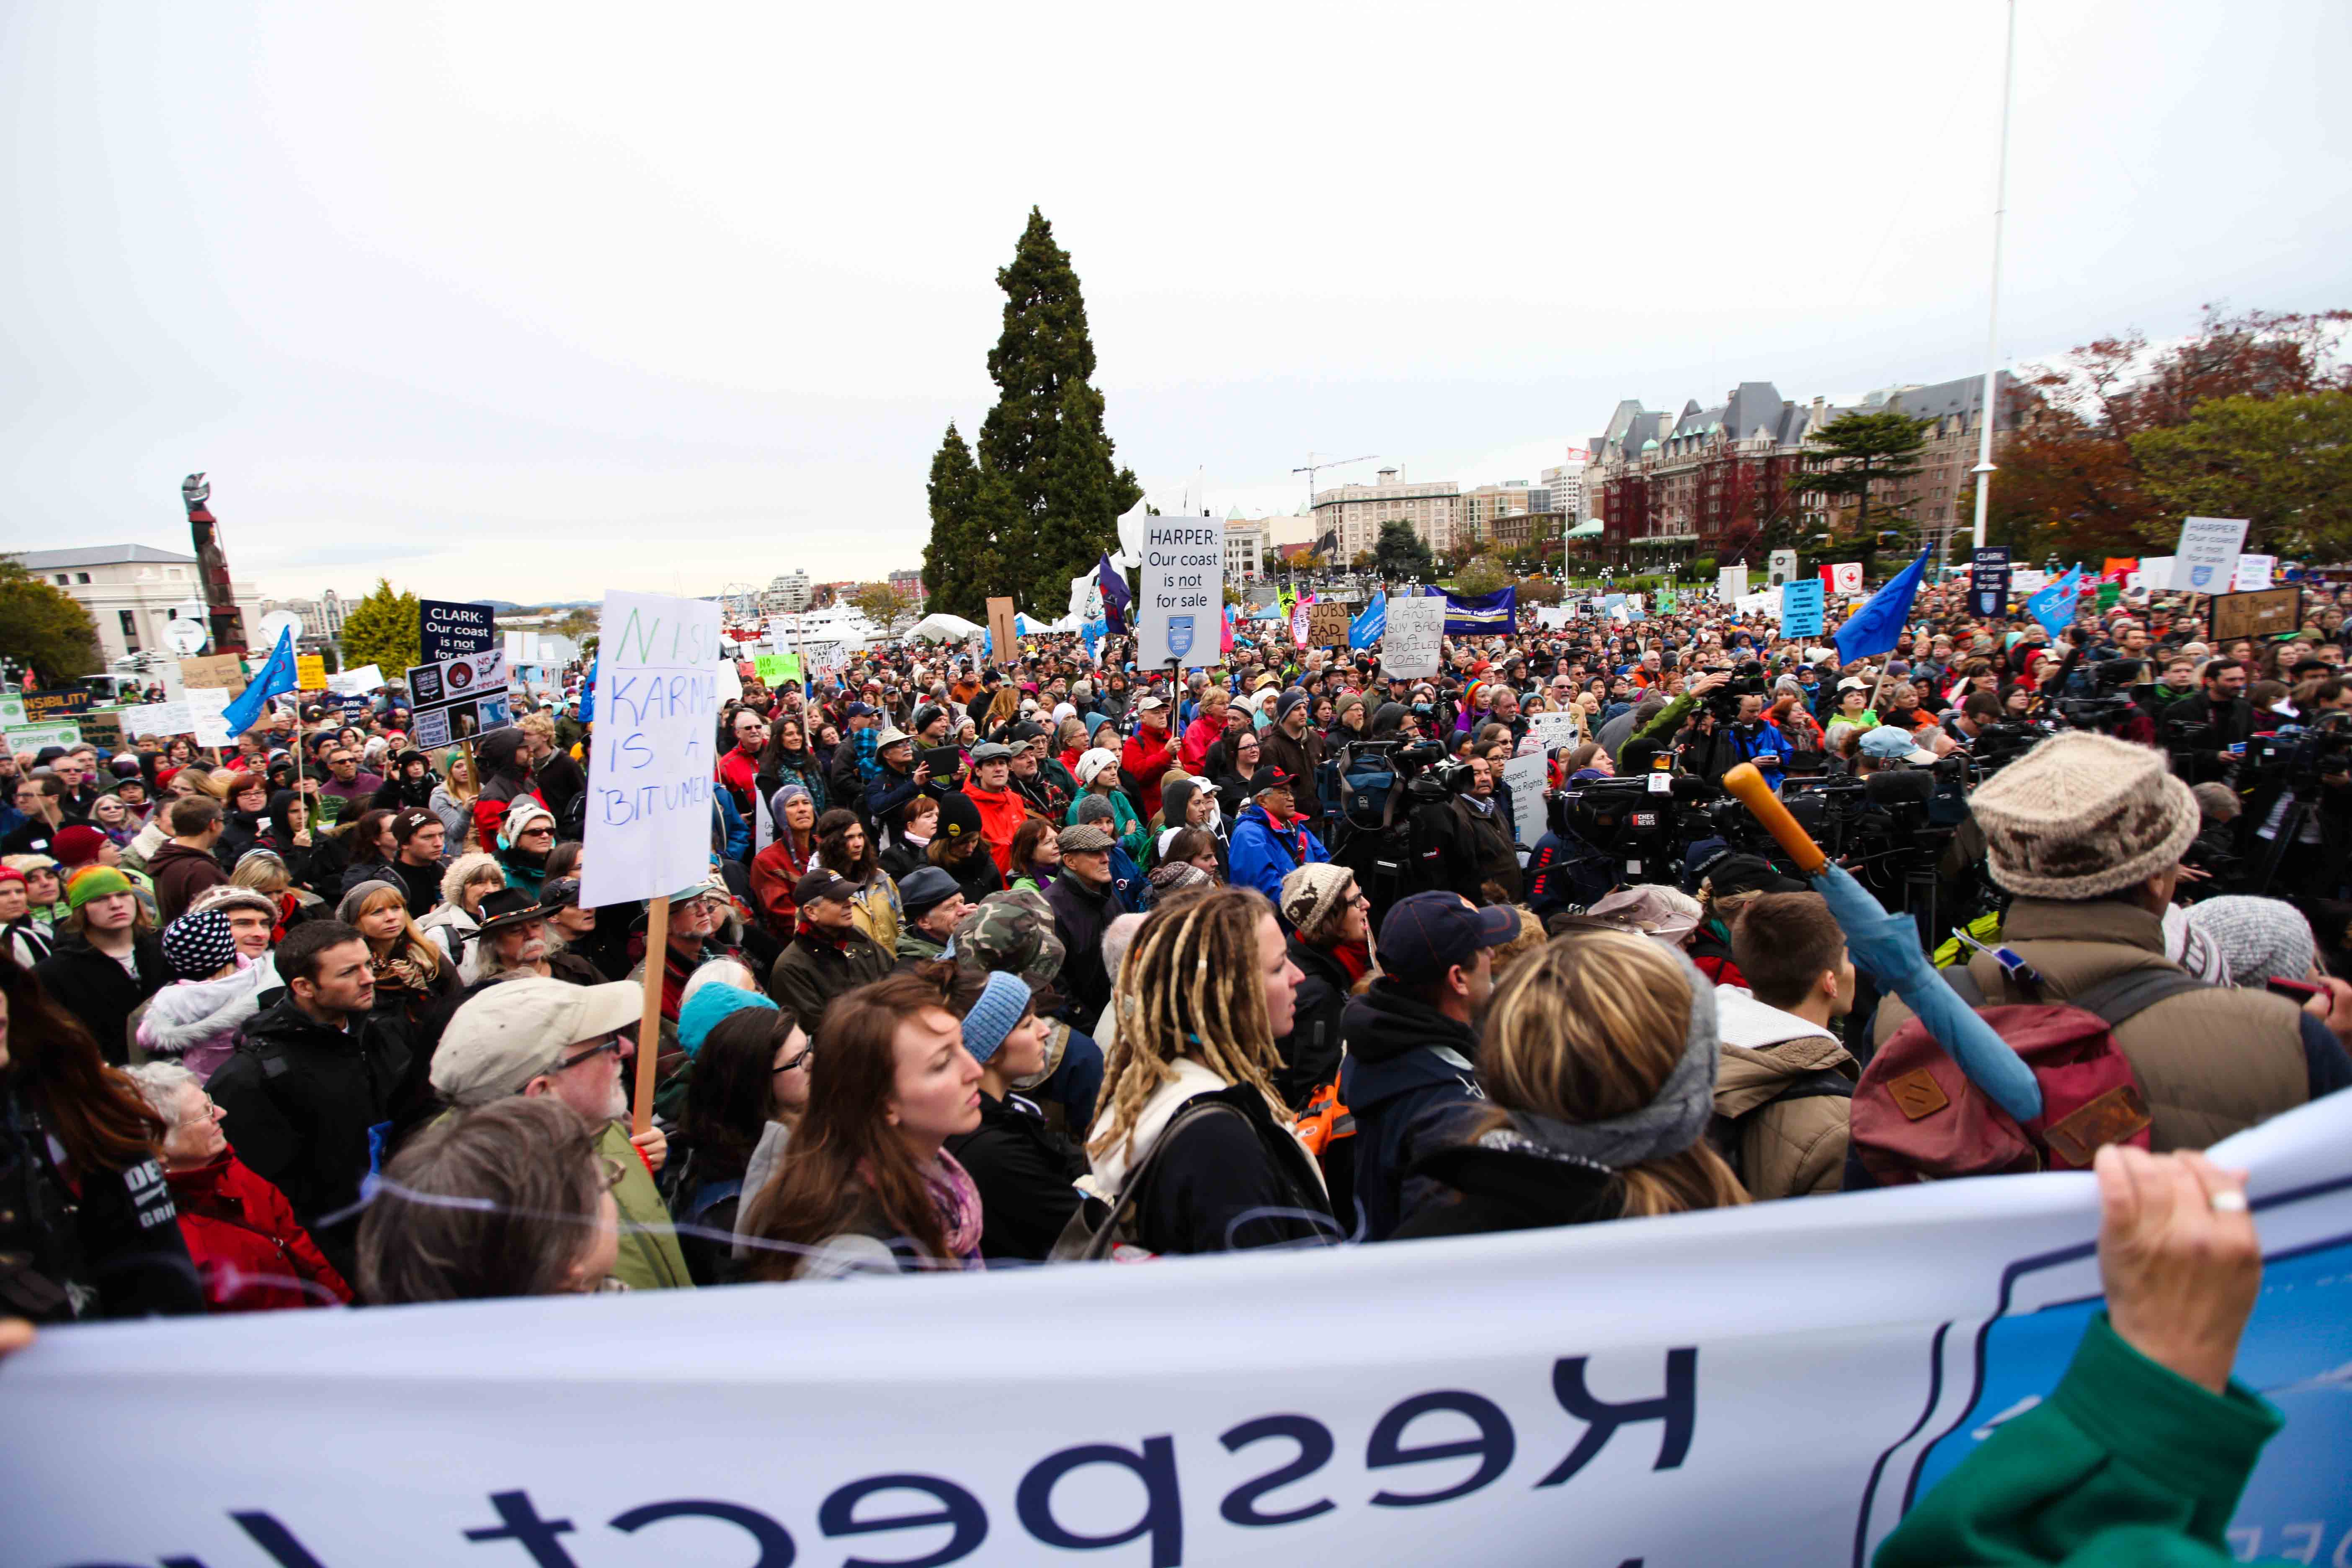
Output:
<instances>
[{"instance_id":1,"label":"tan puffy jacket of person wearing red backpack and knit hat","mask_svg":"<svg viewBox=\"0 0 2352 1568\"><path fill-rule=\"evenodd\" d=\"M2018 898L2002 945L2034 966L2039 1001L2065 1001L2133 969L2178 969L2164 957L2164 922L2112 898L2058 903ZM1990 957L1969 959L1985 1004L2034 1001L2009 987ZM1898 997L1879 1004L1875 1039L1910 1023ZM2260 990L2197 990L2166 997L2114 1032L2147 1098L2150 1147L2204 1150L2310 1098L2312 1072L2293 1001Z\"/></svg>"}]
</instances>

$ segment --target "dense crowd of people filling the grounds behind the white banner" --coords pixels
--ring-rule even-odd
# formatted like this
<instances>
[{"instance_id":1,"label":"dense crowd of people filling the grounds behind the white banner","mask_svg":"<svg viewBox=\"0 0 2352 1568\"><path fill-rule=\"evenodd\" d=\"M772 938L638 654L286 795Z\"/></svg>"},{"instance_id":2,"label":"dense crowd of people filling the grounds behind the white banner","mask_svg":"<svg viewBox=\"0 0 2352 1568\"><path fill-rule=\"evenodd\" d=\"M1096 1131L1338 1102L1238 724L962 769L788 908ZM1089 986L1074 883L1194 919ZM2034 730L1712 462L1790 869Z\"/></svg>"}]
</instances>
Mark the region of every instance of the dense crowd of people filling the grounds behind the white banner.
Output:
<instances>
[{"instance_id":1,"label":"dense crowd of people filling the grounds behind the white banner","mask_svg":"<svg viewBox=\"0 0 2352 1568\"><path fill-rule=\"evenodd\" d=\"M437 755L395 693L221 752L0 755L0 1316L1390 1246L1952 1173L1867 1133L1910 1011L1712 811L1740 764L1889 907L1936 886L1985 1004L2178 976L2103 1013L2145 1117L2098 1171L2114 1248L2187 1246L2244 1225L2194 1152L2352 1084L2352 630L2310 609L2053 637L1929 590L1846 663L1686 597L1406 679L1287 637L1181 675L877 646L743 679L659 943L581 903L579 672ZM2129 1241L2133 1192L2192 1190ZM2140 1274L2237 1291L2232 1246ZM2112 1302L2098 1399L2152 1363L2244 1420L2169 1312Z\"/></svg>"}]
</instances>

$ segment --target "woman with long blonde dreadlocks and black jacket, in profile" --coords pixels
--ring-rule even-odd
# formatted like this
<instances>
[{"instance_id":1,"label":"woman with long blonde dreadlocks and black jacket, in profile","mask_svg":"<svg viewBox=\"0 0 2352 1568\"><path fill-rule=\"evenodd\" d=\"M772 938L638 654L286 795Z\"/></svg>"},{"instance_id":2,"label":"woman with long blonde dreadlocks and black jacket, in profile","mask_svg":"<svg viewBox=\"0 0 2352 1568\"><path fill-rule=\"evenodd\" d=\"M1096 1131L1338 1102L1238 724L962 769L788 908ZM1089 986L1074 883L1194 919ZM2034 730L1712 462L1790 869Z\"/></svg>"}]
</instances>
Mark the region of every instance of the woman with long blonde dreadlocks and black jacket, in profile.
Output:
<instances>
[{"instance_id":1,"label":"woman with long blonde dreadlocks and black jacket, in profile","mask_svg":"<svg viewBox=\"0 0 2352 1568\"><path fill-rule=\"evenodd\" d=\"M1298 966L1254 889L1178 893L1120 964L1089 1187L1152 1253L1338 1239L1275 1091Z\"/></svg>"}]
</instances>

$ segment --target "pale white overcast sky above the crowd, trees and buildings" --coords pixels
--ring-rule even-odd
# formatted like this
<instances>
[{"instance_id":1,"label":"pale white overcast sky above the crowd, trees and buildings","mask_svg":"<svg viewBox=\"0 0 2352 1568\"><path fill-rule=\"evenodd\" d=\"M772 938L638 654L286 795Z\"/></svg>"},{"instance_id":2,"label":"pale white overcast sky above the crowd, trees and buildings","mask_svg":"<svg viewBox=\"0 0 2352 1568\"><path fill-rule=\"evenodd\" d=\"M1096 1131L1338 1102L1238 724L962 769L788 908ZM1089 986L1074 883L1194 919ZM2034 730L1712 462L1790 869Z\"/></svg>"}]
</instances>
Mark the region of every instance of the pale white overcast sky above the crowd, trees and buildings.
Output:
<instances>
[{"instance_id":1,"label":"pale white overcast sky above the crowd, trees and buildings","mask_svg":"<svg viewBox=\"0 0 2352 1568\"><path fill-rule=\"evenodd\" d=\"M273 595L915 567L1033 202L1162 505L1980 374L1999 66L1994 0L19 0L0 548L186 550L202 468ZM2347 80L2343 0L2023 0L2004 353L2352 306Z\"/></svg>"}]
</instances>

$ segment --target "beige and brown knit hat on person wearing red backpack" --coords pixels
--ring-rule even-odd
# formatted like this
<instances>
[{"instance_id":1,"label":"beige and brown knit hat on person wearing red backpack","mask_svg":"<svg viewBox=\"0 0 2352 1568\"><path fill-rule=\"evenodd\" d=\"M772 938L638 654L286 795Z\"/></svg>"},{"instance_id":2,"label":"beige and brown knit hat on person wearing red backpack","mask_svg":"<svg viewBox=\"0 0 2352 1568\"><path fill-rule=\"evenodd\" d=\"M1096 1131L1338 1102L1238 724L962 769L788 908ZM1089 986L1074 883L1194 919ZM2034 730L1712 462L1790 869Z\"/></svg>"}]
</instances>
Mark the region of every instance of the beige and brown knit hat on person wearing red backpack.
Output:
<instances>
[{"instance_id":1,"label":"beige and brown knit hat on person wearing red backpack","mask_svg":"<svg viewBox=\"0 0 2352 1568\"><path fill-rule=\"evenodd\" d=\"M1992 879L2020 898L2100 898L2147 882L2197 837L2197 797L2164 752L2086 731L2051 736L1978 785Z\"/></svg>"}]
</instances>

